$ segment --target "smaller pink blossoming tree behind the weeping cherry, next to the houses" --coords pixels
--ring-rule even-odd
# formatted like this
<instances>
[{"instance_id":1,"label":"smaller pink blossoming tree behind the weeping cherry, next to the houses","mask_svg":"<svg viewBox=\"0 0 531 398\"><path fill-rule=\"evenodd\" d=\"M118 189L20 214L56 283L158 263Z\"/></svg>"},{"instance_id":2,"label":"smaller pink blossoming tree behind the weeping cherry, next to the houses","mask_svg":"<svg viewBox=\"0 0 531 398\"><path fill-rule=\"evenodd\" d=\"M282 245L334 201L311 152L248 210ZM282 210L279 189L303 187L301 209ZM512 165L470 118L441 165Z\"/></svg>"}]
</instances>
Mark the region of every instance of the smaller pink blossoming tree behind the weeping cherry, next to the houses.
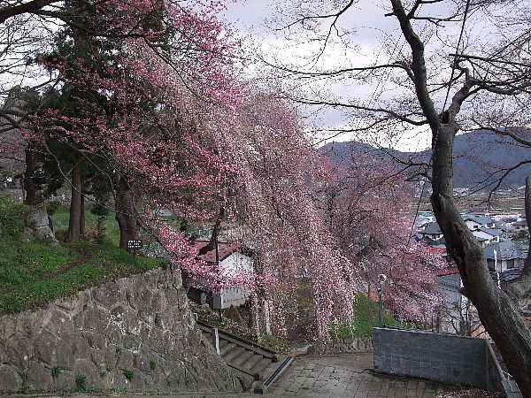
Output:
<instances>
[{"instance_id":1,"label":"smaller pink blossoming tree behind the weeping cherry, next to the houses","mask_svg":"<svg viewBox=\"0 0 531 398\"><path fill-rule=\"evenodd\" d=\"M340 165L323 162L317 197L337 247L369 288L378 274L388 277L386 305L399 318L426 322L442 305L436 271L446 262L412 237L412 186L393 165L356 149Z\"/></svg>"}]
</instances>

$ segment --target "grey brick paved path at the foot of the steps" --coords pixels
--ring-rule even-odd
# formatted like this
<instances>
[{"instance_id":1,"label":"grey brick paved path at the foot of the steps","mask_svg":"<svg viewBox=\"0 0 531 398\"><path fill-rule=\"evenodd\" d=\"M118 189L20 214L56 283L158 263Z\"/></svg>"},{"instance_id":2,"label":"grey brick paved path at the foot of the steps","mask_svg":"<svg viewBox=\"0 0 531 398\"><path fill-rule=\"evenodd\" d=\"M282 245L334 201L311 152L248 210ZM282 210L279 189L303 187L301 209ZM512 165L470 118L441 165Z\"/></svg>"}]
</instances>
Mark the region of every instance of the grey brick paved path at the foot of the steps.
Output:
<instances>
[{"instance_id":1,"label":"grey brick paved path at the foot of the steps","mask_svg":"<svg viewBox=\"0 0 531 398\"><path fill-rule=\"evenodd\" d=\"M370 371L373 354L299 357L267 392L304 397L435 397L455 389Z\"/></svg>"}]
</instances>

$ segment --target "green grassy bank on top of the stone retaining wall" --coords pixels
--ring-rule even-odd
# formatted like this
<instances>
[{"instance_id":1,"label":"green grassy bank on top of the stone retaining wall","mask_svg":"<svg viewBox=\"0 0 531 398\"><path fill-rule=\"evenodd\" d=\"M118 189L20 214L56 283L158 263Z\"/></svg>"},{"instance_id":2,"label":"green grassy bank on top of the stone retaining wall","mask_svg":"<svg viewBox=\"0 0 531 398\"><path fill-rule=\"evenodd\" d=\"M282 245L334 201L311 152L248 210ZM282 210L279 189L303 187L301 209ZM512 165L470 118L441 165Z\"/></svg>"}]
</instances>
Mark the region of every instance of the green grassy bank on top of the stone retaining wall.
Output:
<instances>
[{"instance_id":1,"label":"green grassy bank on top of the stone retaining wall","mask_svg":"<svg viewBox=\"0 0 531 398\"><path fill-rule=\"evenodd\" d=\"M22 241L20 231L28 225L29 211L28 206L0 199L0 315L38 307L104 279L166 264L164 259L134 256L112 243L50 246ZM61 212L56 214L62 217ZM88 212L88 220L90 216Z\"/></svg>"}]
</instances>

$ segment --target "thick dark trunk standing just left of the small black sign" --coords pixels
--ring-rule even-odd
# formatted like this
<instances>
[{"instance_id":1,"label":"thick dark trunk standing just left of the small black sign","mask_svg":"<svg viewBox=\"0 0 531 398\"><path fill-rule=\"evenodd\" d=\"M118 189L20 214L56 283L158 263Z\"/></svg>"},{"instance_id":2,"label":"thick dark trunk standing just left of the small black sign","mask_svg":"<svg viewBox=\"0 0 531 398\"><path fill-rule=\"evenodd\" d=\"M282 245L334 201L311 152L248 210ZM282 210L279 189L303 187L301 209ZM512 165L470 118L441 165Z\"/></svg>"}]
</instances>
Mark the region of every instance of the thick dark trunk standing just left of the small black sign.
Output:
<instances>
[{"instance_id":1,"label":"thick dark trunk standing just left of the small black sign","mask_svg":"<svg viewBox=\"0 0 531 398\"><path fill-rule=\"evenodd\" d=\"M119 226L119 247L127 249L127 241L138 239L135 192L124 176L119 178L116 192L116 220Z\"/></svg>"}]
</instances>

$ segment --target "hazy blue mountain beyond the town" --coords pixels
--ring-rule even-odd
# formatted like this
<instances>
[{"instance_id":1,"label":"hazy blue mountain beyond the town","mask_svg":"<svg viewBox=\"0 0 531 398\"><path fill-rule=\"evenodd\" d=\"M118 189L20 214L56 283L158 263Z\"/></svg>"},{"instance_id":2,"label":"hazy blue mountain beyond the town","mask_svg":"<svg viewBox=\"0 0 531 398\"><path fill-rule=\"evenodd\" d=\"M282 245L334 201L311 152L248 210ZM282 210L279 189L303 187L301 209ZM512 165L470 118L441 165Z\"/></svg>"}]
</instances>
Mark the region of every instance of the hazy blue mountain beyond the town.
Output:
<instances>
[{"instance_id":1,"label":"hazy blue mountain beyond the town","mask_svg":"<svg viewBox=\"0 0 531 398\"><path fill-rule=\"evenodd\" d=\"M531 130L529 131L531 135ZM330 159L340 165L348 165L351 150L354 153L373 154L375 157L392 160L412 159L426 161L431 149L422 152L401 152L394 149L377 149L362 142L330 142L319 148L328 153ZM512 138L478 130L472 133L460 134L454 145L454 187L481 188L492 187L494 180L500 177L504 170L518 165L524 160L531 160L531 149ZM492 175L495 173L494 175ZM526 184L527 175L531 174L531 165L523 165L510 172L500 188L519 188Z\"/></svg>"}]
</instances>

